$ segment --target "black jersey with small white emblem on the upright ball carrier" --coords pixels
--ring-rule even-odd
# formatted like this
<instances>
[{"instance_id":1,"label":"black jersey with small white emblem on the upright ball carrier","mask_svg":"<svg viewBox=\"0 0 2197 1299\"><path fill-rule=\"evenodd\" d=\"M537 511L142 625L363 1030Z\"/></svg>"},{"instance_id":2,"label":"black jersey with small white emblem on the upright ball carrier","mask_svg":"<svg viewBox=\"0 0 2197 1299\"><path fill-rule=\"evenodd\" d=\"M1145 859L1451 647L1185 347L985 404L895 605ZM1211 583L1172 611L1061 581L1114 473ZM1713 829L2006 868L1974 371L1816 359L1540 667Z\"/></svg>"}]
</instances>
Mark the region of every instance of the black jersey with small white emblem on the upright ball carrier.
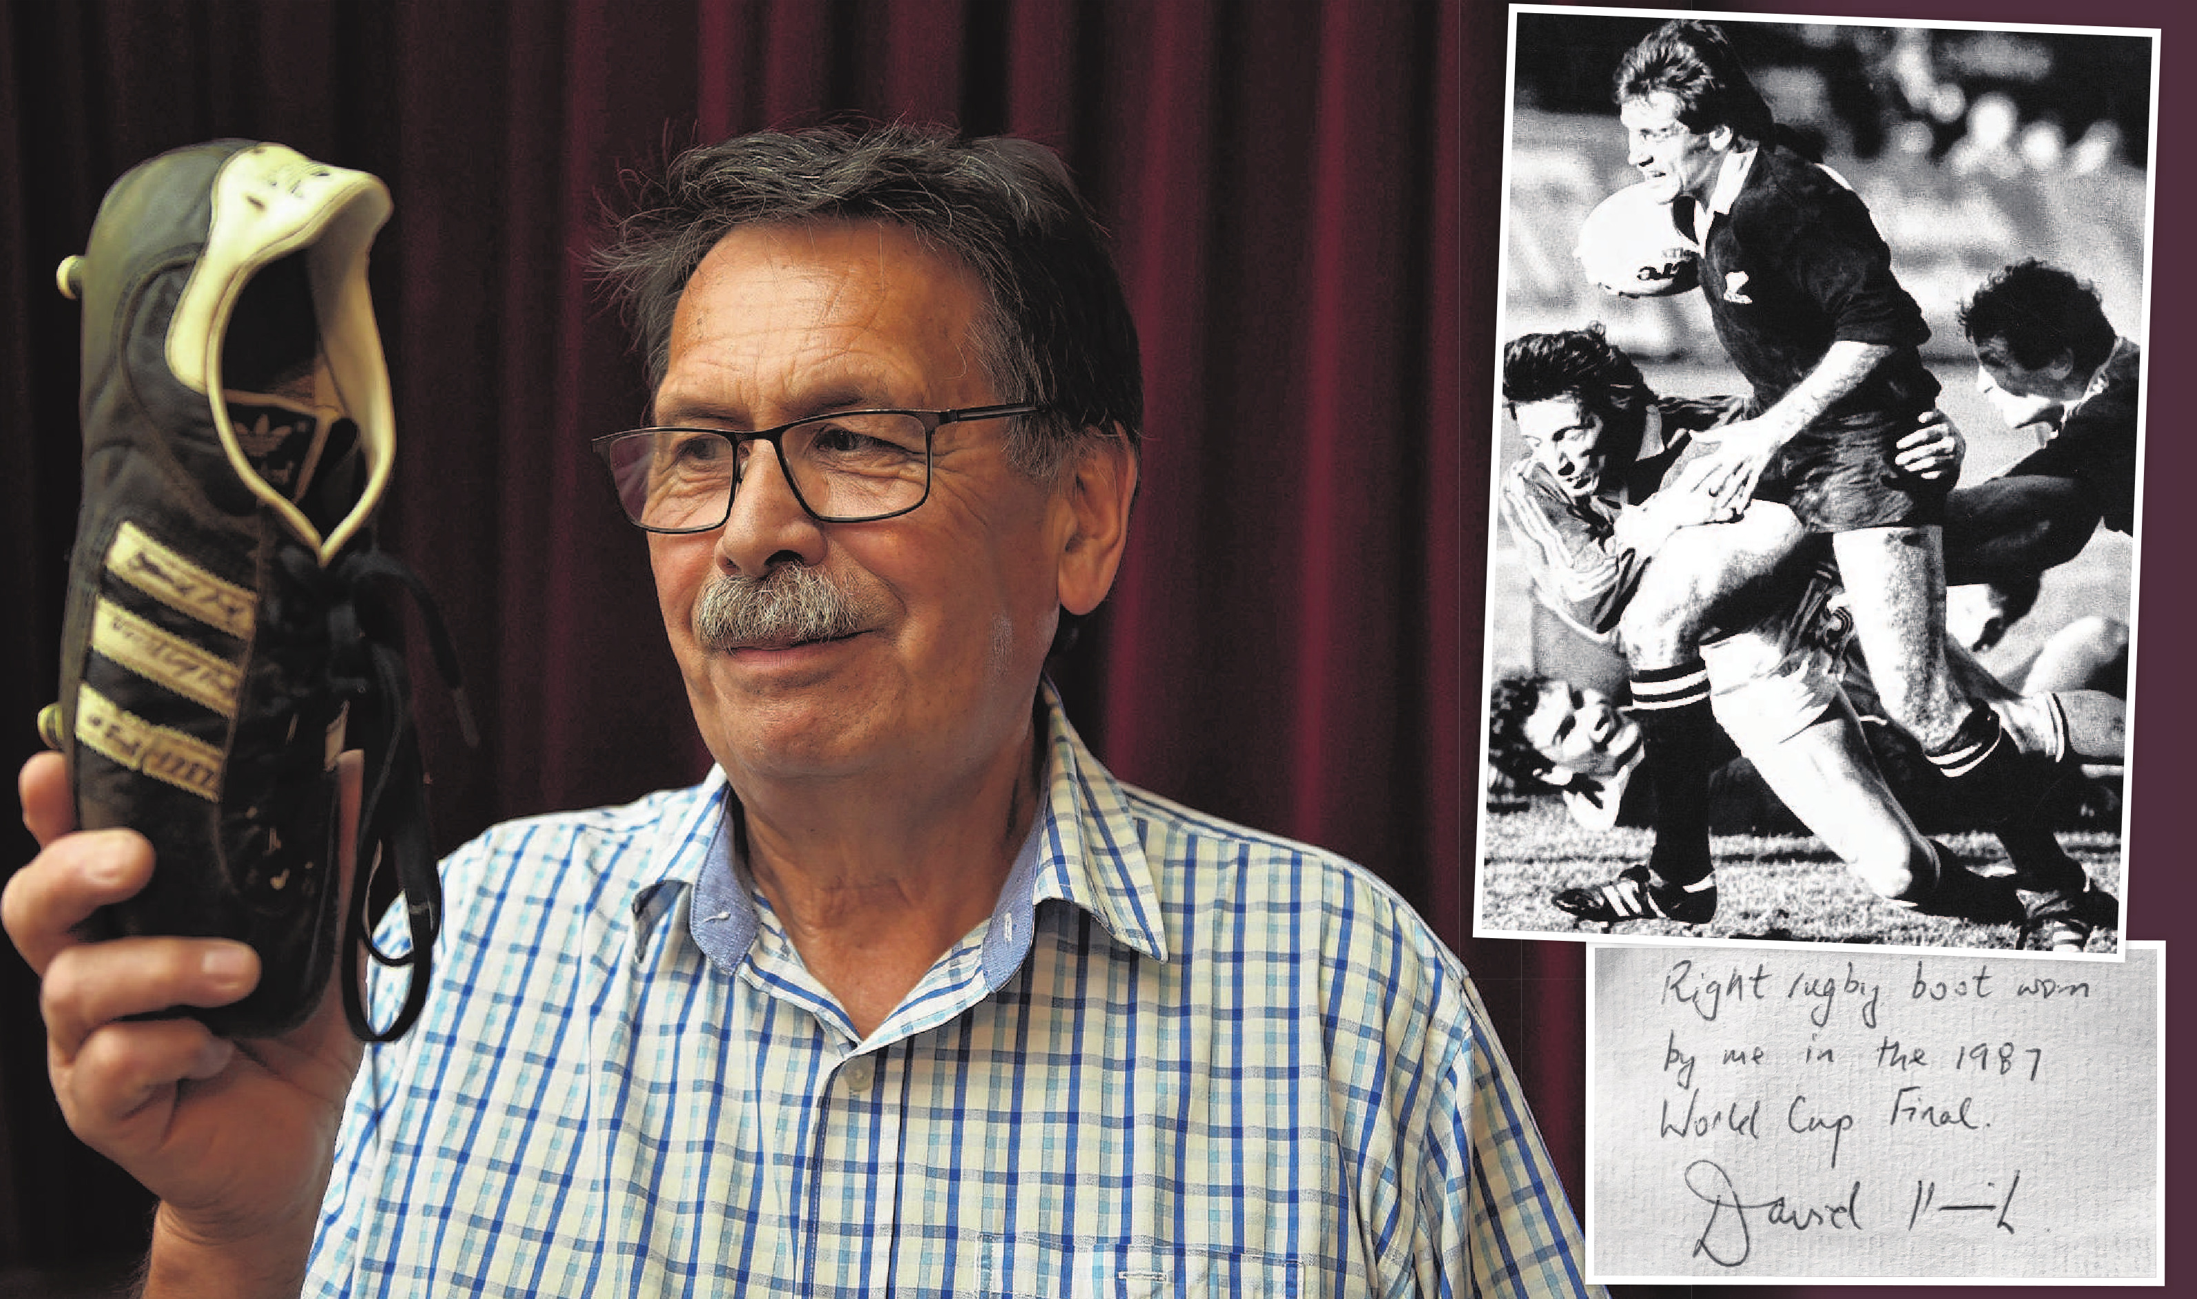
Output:
<instances>
[{"instance_id":1,"label":"black jersey with small white emblem on the upright ball carrier","mask_svg":"<svg viewBox=\"0 0 2197 1299\"><path fill-rule=\"evenodd\" d=\"M1896 347L1824 418L1922 411L1938 380L1916 347L1922 308L1892 275L1892 251L1870 209L1828 169L1780 145L1755 152L1729 211L1703 244L1700 292L1716 338L1769 409L1806 378L1832 343Z\"/></svg>"}]
</instances>

